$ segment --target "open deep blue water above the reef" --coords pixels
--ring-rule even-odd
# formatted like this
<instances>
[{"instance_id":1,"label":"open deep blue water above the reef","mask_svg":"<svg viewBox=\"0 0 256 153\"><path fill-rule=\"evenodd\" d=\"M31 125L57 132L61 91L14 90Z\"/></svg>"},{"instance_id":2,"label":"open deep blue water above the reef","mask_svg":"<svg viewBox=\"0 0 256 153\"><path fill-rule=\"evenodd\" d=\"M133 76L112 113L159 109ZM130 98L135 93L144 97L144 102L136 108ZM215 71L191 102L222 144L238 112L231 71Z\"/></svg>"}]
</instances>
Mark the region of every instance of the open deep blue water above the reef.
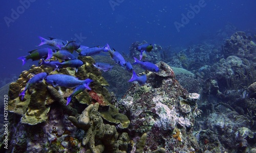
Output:
<instances>
[{"instance_id":1,"label":"open deep blue water above the reef","mask_svg":"<svg viewBox=\"0 0 256 153\"><path fill-rule=\"evenodd\" d=\"M191 14L191 7L199 3L203 7ZM0 79L19 75L37 64L30 60L22 66L17 58L38 48L38 36L75 39L86 46L109 43L126 53L131 43L143 40L161 46L186 47L210 38L226 24L233 24L238 31L255 32L255 8L256 2L250 0L3 1ZM178 32L174 22L181 23L182 14L186 16L189 11L189 21Z\"/></svg>"}]
</instances>

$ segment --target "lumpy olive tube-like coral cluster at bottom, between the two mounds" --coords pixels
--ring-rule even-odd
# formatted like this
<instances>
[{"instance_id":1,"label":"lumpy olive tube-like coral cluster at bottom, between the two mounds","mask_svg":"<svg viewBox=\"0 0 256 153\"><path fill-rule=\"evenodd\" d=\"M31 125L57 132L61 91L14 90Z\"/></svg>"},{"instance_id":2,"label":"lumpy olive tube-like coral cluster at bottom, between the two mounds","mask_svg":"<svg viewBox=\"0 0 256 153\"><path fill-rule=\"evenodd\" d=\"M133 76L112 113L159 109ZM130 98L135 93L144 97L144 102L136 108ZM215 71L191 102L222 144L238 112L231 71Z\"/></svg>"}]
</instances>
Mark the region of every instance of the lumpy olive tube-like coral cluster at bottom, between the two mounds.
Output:
<instances>
[{"instance_id":1,"label":"lumpy olive tube-like coral cluster at bottom, between the two mounds","mask_svg":"<svg viewBox=\"0 0 256 153\"><path fill-rule=\"evenodd\" d=\"M75 126L87 131L82 145L90 149L87 152L126 152L129 143L127 133L121 134L118 139L115 126L103 123L98 108L98 103L91 104L77 118L69 116Z\"/></svg>"}]
</instances>

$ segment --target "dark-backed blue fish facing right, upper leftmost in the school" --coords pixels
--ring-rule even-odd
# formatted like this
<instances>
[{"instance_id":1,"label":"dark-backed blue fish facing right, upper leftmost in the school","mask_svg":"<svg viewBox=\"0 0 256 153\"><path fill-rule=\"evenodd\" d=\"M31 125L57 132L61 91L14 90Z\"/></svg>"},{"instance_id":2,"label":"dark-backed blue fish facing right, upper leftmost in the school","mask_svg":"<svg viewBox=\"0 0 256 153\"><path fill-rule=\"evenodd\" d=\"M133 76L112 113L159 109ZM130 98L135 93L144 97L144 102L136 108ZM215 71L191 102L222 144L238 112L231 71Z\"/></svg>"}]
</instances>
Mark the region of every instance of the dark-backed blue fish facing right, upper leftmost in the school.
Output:
<instances>
[{"instance_id":1,"label":"dark-backed blue fish facing right, upper leftmost in the school","mask_svg":"<svg viewBox=\"0 0 256 153\"><path fill-rule=\"evenodd\" d=\"M23 61L22 65L24 65L29 59L31 59L32 61L40 60L42 58L48 60L53 56L53 50L50 48L34 49L28 53L29 53L28 56L23 56L18 58L19 60Z\"/></svg>"}]
</instances>

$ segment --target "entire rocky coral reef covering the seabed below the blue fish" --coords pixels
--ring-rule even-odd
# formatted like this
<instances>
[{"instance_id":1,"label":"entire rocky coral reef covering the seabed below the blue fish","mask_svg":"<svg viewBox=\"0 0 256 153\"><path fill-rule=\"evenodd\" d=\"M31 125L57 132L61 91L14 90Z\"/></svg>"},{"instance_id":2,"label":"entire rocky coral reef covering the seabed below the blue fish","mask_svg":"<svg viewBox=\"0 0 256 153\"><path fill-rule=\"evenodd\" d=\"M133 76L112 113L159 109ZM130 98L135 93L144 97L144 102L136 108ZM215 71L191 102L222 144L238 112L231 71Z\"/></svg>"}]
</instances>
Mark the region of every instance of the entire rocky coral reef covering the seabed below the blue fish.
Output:
<instances>
[{"instance_id":1,"label":"entire rocky coral reef covering the seabed below the blue fish","mask_svg":"<svg viewBox=\"0 0 256 153\"><path fill-rule=\"evenodd\" d=\"M78 57L77 72L33 65L9 86L6 152L256 152L256 35L235 32L221 48L234 31L228 24L213 36L218 41L187 48L154 45L146 61L158 62L160 71L134 65L147 76L143 86L127 82L132 73L108 56ZM144 43L132 43L125 59L132 63ZM114 67L101 72L95 61ZM42 81L21 99L40 72L92 79L92 90L66 106L73 89Z\"/></svg>"}]
</instances>

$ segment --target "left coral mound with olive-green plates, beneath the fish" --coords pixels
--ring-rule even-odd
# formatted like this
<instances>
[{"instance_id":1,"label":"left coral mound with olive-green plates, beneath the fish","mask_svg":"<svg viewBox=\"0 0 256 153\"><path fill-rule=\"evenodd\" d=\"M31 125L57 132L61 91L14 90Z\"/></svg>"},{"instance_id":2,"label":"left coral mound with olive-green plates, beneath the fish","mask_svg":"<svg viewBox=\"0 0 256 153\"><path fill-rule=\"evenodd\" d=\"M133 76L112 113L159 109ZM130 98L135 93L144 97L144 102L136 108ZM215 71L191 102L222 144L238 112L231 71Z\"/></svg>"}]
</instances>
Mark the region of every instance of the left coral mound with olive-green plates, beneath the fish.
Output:
<instances>
[{"instance_id":1,"label":"left coral mound with olive-green plates, beneath the fish","mask_svg":"<svg viewBox=\"0 0 256 153\"><path fill-rule=\"evenodd\" d=\"M70 68L52 72L52 68L33 65L28 71L23 71L15 83L10 84L8 106L11 113L9 139L12 150L10 152L88 152L90 148L92 152L95 152L95 149L98 152L103 150L105 152L108 150L125 152L127 150L129 136L127 133L123 133L118 138L116 127L119 130L125 129L129 126L130 120L110 104L112 97L105 88L109 84L101 76L101 72L93 66L95 61L91 57L79 57L79 59L84 64L79 67L77 73ZM42 81L32 85L24 99L21 100L19 93L32 78L31 73L40 72L69 74L81 80L90 78L94 80L90 85L92 90L79 93L72 98L72 103L66 106L66 99L72 90L65 87L54 88ZM85 109L88 105L90 107ZM87 111L90 108L94 108L91 109L93 113ZM100 112L98 112L98 108L100 108ZM85 126L73 122L77 125L74 126L68 120L68 117L76 118L84 115L84 112L89 113L88 121L94 117L85 129ZM96 124L97 122L99 124ZM103 122L108 122L111 125ZM103 130L105 136L101 139L103 145L92 147L92 139L90 139L90 146L84 147L83 145L86 143L81 141L81 137L84 137L82 132L86 132L87 138L90 131L96 134L98 132L94 131L96 125L105 129ZM112 136L115 141L108 141L109 136ZM98 143L98 140L95 143Z\"/></svg>"}]
</instances>

